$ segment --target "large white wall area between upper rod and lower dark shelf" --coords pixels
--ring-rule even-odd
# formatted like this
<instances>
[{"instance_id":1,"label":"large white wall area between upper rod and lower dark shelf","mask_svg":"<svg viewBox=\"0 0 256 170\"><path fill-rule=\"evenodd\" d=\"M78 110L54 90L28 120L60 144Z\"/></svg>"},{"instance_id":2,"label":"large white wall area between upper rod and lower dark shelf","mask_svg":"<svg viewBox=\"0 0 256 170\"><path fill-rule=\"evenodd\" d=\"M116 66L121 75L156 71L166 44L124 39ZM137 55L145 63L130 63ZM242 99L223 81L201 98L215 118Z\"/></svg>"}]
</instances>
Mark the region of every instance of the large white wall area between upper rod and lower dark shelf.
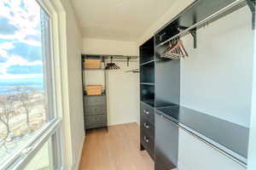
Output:
<instances>
[{"instance_id":1,"label":"large white wall area between upper rod and lower dark shelf","mask_svg":"<svg viewBox=\"0 0 256 170\"><path fill-rule=\"evenodd\" d=\"M183 37L181 105L245 127L250 125L253 77L251 11L244 7Z\"/></svg>"}]
</instances>

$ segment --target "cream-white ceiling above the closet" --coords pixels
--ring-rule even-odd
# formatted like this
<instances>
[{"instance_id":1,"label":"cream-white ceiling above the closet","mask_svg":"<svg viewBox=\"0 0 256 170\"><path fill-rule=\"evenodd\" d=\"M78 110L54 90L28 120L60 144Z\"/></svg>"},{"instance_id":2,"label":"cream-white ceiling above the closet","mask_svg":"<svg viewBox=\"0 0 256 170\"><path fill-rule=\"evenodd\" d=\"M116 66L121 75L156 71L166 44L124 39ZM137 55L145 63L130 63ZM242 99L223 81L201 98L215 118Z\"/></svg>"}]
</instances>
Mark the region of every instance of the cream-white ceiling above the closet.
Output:
<instances>
[{"instance_id":1,"label":"cream-white ceiling above the closet","mask_svg":"<svg viewBox=\"0 0 256 170\"><path fill-rule=\"evenodd\" d=\"M177 0L73 0L84 37L136 41Z\"/></svg>"}]
</instances>

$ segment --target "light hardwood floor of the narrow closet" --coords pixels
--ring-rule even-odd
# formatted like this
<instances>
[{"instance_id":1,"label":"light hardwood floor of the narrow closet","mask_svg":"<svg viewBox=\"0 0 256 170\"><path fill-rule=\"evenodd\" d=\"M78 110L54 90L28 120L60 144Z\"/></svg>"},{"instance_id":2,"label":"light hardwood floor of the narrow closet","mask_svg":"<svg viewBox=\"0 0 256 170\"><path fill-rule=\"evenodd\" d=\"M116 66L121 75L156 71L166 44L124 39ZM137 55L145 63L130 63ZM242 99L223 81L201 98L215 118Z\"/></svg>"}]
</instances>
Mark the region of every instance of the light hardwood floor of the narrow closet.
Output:
<instances>
[{"instance_id":1,"label":"light hardwood floor of the narrow closet","mask_svg":"<svg viewBox=\"0 0 256 170\"><path fill-rule=\"evenodd\" d=\"M154 161L140 151L137 123L128 123L87 131L79 170L154 170Z\"/></svg>"}]
</instances>

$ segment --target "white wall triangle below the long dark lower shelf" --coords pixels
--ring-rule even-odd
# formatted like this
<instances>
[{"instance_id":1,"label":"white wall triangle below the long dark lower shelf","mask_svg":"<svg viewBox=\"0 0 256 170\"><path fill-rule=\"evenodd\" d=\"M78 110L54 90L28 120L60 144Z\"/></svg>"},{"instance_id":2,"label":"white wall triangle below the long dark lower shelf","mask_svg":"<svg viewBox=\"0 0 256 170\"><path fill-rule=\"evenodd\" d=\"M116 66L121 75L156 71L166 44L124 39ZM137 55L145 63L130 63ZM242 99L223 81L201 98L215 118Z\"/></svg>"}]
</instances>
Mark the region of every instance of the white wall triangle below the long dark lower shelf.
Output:
<instances>
[{"instance_id":1,"label":"white wall triangle below the long dark lower shelf","mask_svg":"<svg viewBox=\"0 0 256 170\"><path fill-rule=\"evenodd\" d=\"M246 167L242 167L201 140L195 139L181 128L178 138L179 170L246 170Z\"/></svg>"}]
</instances>

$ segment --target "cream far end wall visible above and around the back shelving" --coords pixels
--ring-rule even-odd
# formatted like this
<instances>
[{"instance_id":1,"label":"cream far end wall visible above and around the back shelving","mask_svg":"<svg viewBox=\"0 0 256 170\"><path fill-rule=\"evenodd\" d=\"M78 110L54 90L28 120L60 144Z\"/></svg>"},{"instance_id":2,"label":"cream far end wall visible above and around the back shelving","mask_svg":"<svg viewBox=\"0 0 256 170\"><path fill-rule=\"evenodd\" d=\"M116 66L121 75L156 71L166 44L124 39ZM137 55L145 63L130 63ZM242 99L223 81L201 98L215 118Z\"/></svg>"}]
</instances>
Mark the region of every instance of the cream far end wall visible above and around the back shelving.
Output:
<instances>
[{"instance_id":1,"label":"cream far end wall visible above and around the back shelving","mask_svg":"<svg viewBox=\"0 0 256 170\"><path fill-rule=\"evenodd\" d=\"M135 42L84 38L83 54L138 55ZM125 71L138 68L138 61L115 62L120 70L107 71L108 125L137 122L139 116L139 74ZM86 84L104 85L101 71L87 71Z\"/></svg>"}]
</instances>

